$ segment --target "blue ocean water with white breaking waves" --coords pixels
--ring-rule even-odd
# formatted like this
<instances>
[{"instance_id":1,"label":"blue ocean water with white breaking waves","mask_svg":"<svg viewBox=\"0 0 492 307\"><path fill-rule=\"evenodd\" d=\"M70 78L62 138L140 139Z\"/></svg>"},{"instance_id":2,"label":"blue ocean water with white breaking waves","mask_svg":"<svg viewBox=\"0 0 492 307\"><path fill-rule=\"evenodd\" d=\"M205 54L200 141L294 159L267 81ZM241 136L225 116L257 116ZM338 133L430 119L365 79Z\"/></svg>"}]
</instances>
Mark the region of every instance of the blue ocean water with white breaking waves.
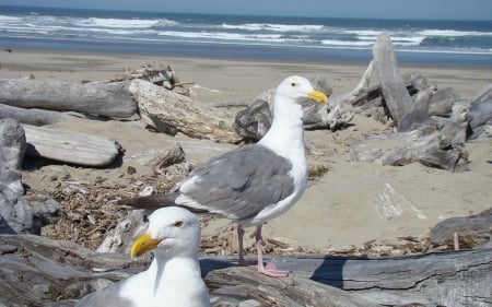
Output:
<instances>
[{"instance_id":1,"label":"blue ocean water with white breaking waves","mask_svg":"<svg viewBox=\"0 0 492 307\"><path fill-rule=\"evenodd\" d=\"M0 5L0 48L368 62L387 32L401 63L492 67L492 21L241 16Z\"/></svg>"}]
</instances>

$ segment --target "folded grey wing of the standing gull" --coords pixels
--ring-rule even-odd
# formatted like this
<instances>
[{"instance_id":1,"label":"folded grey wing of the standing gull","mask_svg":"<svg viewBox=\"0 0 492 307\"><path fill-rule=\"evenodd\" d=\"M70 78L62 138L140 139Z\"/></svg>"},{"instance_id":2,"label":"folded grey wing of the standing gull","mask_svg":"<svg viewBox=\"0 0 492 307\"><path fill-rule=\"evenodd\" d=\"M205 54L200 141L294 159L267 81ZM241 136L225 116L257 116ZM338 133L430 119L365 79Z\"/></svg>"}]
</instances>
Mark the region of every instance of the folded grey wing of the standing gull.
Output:
<instances>
[{"instance_id":1,"label":"folded grey wing of the standing gull","mask_svg":"<svg viewBox=\"0 0 492 307\"><path fill-rule=\"evenodd\" d=\"M184 186L185 180L178 189L212 212L233 220L246 220L293 192L291 168L289 160L253 144L196 168L188 178L199 176L199 180Z\"/></svg>"}]
</instances>

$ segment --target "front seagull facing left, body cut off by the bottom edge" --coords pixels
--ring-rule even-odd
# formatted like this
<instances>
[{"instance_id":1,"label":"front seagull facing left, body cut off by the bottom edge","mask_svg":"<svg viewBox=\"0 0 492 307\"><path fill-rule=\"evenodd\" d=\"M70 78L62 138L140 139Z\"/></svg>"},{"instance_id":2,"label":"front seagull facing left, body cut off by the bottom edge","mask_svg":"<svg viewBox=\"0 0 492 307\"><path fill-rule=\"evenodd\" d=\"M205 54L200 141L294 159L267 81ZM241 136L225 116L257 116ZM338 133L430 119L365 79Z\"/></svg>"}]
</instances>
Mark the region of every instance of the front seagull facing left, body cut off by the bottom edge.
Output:
<instances>
[{"instance_id":1,"label":"front seagull facing left, body cut off by the bottom edge","mask_svg":"<svg viewBox=\"0 0 492 307\"><path fill-rule=\"evenodd\" d=\"M131 257L150 250L149 270L82 298L75 307L207 307L209 292L198 262L200 221L186 209L162 208L149 216L149 228Z\"/></svg>"}]
</instances>

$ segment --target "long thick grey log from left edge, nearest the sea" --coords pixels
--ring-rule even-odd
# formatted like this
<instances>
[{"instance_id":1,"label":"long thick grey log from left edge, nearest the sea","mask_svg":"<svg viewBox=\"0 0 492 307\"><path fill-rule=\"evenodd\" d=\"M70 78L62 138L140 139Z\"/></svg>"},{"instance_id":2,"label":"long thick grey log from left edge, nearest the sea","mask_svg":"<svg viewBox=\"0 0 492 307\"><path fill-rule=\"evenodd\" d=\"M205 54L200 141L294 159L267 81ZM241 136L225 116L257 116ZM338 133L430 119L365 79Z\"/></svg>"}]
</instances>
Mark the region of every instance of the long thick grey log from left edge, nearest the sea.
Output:
<instances>
[{"instance_id":1,"label":"long thick grey log from left edge, nearest the sea","mask_svg":"<svg viewBox=\"0 0 492 307\"><path fill-rule=\"evenodd\" d=\"M122 87L125 85L120 85ZM90 83L56 80L0 80L0 103L23 108L75 110L109 117L130 117L137 111L128 92L115 93L91 86Z\"/></svg>"}]
</instances>

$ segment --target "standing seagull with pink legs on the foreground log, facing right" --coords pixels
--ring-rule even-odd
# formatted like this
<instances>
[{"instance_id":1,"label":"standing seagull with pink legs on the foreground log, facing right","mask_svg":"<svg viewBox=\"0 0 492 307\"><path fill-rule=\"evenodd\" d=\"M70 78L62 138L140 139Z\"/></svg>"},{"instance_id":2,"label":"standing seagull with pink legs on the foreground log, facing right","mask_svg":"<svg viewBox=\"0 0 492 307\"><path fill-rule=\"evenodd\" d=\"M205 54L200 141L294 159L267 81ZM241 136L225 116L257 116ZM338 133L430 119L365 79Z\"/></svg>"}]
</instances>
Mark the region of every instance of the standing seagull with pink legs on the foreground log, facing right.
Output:
<instances>
[{"instance_id":1,"label":"standing seagull with pink legs on the foreground log, facing right","mask_svg":"<svg viewBox=\"0 0 492 307\"><path fill-rule=\"evenodd\" d=\"M257 226L258 271L286 276L288 271L279 271L272 263L263 265L261 225L288 211L306 190L302 103L307 98L327 101L305 78L286 78L276 91L271 128L258 143L212 158L191 172L169 194L133 198L124 203L147 209L181 205L235 221L239 264L244 263L243 227Z\"/></svg>"}]
</instances>

